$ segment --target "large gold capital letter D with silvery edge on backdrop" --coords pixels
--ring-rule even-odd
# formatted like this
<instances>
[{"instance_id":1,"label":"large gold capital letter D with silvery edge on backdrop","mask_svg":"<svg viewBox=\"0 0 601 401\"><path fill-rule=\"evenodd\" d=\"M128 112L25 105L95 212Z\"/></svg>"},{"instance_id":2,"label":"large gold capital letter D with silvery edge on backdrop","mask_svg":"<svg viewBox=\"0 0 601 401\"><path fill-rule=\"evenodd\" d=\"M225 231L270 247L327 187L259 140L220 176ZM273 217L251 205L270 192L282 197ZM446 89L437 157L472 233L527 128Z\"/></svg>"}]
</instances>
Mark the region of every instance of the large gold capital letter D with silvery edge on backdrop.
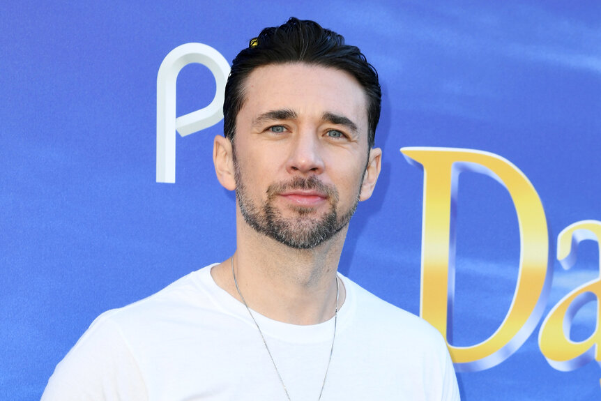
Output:
<instances>
[{"instance_id":1,"label":"large gold capital letter D with silvery edge on backdrop","mask_svg":"<svg viewBox=\"0 0 601 401\"><path fill-rule=\"evenodd\" d=\"M484 151L450 148L403 148L411 164L423 167L422 280L420 316L447 338L448 310L452 308L455 280L455 243L451 235L458 176L478 172L507 188L517 213L520 262L512 303L501 326L487 340L471 347L449 345L459 372L497 365L526 341L545 308L551 275L549 234L545 211L534 187L508 160ZM450 290L449 290L450 289Z\"/></svg>"}]
</instances>

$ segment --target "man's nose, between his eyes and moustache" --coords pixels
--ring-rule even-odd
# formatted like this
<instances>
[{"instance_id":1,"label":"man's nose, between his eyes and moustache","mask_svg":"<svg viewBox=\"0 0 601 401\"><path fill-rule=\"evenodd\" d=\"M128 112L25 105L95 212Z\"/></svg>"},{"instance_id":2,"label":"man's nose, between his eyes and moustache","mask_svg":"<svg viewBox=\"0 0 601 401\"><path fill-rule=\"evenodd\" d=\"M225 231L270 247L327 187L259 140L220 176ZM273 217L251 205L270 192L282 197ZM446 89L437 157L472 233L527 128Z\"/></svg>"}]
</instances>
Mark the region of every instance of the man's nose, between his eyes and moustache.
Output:
<instances>
[{"instance_id":1,"label":"man's nose, between his eyes and moustache","mask_svg":"<svg viewBox=\"0 0 601 401\"><path fill-rule=\"evenodd\" d=\"M290 145L287 160L290 174L321 174L324 171L321 144L315 130L300 131Z\"/></svg>"}]
</instances>

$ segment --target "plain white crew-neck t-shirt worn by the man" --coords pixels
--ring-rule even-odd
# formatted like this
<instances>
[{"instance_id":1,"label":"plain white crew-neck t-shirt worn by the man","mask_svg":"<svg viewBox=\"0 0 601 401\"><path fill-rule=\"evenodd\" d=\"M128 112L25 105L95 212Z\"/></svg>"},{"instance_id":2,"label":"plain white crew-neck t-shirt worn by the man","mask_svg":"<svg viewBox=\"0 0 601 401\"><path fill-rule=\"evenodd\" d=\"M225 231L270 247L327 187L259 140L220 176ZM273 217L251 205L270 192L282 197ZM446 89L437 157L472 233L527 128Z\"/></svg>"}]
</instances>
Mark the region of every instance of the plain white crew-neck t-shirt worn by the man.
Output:
<instances>
[{"instance_id":1,"label":"plain white crew-neck t-shirt worn by the man","mask_svg":"<svg viewBox=\"0 0 601 401\"><path fill-rule=\"evenodd\" d=\"M215 284L212 266L100 315L56 366L42 400L286 400L257 326ZM438 331L340 278L347 298L321 400L459 400ZM298 326L254 317L291 400L317 400L333 319Z\"/></svg>"}]
</instances>

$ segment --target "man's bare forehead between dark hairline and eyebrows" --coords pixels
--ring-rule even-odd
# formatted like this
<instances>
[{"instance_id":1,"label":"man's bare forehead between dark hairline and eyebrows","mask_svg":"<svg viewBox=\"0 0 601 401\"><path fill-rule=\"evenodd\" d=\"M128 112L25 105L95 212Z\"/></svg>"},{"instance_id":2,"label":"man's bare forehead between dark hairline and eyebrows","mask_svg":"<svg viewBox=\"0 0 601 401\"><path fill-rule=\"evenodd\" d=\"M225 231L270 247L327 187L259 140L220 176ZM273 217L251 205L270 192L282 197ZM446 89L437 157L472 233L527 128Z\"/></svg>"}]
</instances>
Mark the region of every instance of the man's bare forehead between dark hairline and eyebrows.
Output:
<instances>
[{"instance_id":1,"label":"man's bare forehead between dark hairline and eyebrows","mask_svg":"<svg viewBox=\"0 0 601 401\"><path fill-rule=\"evenodd\" d=\"M306 63L261 66L244 83L244 104L238 117L277 109L291 109L299 116L346 116L367 133L367 94L349 73Z\"/></svg>"}]
</instances>

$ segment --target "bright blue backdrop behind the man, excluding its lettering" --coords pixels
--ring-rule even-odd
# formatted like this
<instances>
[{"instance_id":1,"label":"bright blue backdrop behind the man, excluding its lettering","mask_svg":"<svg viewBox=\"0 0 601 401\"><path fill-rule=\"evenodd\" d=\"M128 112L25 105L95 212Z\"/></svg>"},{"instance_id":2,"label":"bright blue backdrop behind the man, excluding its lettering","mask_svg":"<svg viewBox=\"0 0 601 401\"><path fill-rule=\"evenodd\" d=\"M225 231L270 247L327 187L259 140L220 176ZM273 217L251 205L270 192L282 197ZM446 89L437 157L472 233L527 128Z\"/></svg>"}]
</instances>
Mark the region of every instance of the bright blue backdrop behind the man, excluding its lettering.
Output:
<instances>
[{"instance_id":1,"label":"bright blue backdrop behind the man, excluding its lettering","mask_svg":"<svg viewBox=\"0 0 601 401\"><path fill-rule=\"evenodd\" d=\"M205 43L228 61L294 15L358 45L376 66L383 172L351 222L340 270L419 313L423 172L402 146L479 149L524 172L550 243L601 220L601 3L580 1L8 1L0 10L0 398L40 398L54 366L101 312L158 291L234 251L234 196L211 160L222 123L178 137L177 181L155 182L156 77L167 53ZM183 68L177 115L207 105L207 68ZM547 312L599 276L581 243L551 252ZM519 229L499 183L463 174L452 342L488 338L512 301ZM597 301L572 340L598 323ZM540 324L539 324L540 326ZM458 374L462 398L596 400L601 372L551 368L538 326L494 368Z\"/></svg>"}]
</instances>

